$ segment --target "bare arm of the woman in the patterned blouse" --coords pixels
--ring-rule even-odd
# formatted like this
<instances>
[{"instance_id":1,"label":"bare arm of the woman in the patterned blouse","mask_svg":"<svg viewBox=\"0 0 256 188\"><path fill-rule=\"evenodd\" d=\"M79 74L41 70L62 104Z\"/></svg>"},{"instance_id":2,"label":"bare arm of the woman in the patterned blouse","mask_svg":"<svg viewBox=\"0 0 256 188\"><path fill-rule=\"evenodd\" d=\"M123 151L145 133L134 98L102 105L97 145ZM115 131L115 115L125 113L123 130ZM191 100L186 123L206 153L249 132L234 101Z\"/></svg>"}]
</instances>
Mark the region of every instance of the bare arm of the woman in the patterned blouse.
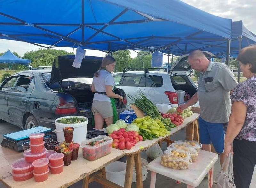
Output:
<instances>
[{"instance_id":1,"label":"bare arm of the woman in the patterned blouse","mask_svg":"<svg viewBox=\"0 0 256 188\"><path fill-rule=\"evenodd\" d=\"M228 122L228 129L225 136L225 153L233 153L232 142L241 131L245 117L246 117L247 107L242 101L235 101L232 104L231 114Z\"/></svg>"}]
</instances>

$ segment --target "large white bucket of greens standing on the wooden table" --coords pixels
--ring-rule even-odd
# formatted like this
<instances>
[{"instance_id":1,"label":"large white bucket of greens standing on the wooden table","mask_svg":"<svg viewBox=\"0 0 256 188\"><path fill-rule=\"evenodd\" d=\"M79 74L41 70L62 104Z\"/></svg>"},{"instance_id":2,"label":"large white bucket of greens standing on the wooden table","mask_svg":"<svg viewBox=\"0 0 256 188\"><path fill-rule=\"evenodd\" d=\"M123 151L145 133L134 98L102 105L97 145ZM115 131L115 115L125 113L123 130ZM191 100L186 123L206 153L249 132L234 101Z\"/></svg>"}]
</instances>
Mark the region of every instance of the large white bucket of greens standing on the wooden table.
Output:
<instances>
[{"instance_id":1,"label":"large white bucket of greens standing on the wooden table","mask_svg":"<svg viewBox=\"0 0 256 188\"><path fill-rule=\"evenodd\" d=\"M83 140L86 140L88 119L85 122L77 123L77 124L62 124L62 123L57 122L57 120L60 120L61 118L69 118L69 117L79 117L79 118L87 119L87 117L84 117L84 116L65 116L65 117L60 117L60 118L56 119L55 120L55 126L56 126L55 131L56 131L56 134L57 134L57 140L60 143L65 141L63 128L65 128L65 127L74 127L73 141L75 143L78 143L78 144L81 145L81 142Z\"/></svg>"}]
</instances>

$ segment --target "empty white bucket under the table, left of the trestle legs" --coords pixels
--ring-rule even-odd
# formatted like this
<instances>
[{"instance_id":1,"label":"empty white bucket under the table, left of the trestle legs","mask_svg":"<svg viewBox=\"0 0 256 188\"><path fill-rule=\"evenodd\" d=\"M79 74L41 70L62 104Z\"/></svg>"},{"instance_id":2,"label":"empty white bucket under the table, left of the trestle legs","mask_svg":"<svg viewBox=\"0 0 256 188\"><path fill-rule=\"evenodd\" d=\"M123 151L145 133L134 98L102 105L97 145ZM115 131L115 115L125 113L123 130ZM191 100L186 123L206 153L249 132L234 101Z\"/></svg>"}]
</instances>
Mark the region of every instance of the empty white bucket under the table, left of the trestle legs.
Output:
<instances>
[{"instance_id":1,"label":"empty white bucket under the table, left of the trestle legs","mask_svg":"<svg viewBox=\"0 0 256 188\"><path fill-rule=\"evenodd\" d=\"M115 161L105 167L107 180L124 187L126 164Z\"/></svg>"}]
</instances>

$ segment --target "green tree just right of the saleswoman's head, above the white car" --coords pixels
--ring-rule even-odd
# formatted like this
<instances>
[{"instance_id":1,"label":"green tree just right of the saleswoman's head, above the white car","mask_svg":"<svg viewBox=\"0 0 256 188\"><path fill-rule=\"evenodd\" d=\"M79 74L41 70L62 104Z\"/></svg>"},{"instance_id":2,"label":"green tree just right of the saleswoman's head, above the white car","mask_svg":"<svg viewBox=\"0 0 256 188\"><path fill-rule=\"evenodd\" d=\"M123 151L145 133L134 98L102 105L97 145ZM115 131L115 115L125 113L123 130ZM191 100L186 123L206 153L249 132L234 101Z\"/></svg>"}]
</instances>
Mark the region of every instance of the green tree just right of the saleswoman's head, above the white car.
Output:
<instances>
[{"instance_id":1,"label":"green tree just right of the saleswoman's head, above the white car","mask_svg":"<svg viewBox=\"0 0 256 188\"><path fill-rule=\"evenodd\" d=\"M132 57L128 49L115 51L112 56L116 59L115 72L121 72L124 68L131 66Z\"/></svg>"}]
</instances>

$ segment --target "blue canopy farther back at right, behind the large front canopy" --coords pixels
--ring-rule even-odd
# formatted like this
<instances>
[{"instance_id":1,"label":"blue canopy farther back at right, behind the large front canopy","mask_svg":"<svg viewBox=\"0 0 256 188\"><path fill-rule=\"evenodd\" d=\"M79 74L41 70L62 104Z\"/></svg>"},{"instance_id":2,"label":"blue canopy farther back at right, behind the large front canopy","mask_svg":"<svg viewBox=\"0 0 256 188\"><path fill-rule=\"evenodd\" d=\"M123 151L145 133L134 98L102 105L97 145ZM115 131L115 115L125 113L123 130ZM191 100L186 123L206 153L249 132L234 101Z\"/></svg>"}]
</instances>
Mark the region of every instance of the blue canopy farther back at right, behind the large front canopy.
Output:
<instances>
[{"instance_id":1,"label":"blue canopy farther back at right, behind the large front canopy","mask_svg":"<svg viewBox=\"0 0 256 188\"><path fill-rule=\"evenodd\" d=\"M242 36L242 48L256 44L256 35L249 31L242 21L232 22L230 43L230 56L238 56L239 36ZM157 46L158 47L158 46ZM157 48L155 47L155 48ZM153 48L153 49L155 49ZM161 50L163 53L173 53L176 56L187 54L192 50L200 49L212 52L215 56L222 58L227 53L227 41L211 41L211 42L196 42L188 44L172 45L167 49Z\"/></svg>"}]
</instances>

